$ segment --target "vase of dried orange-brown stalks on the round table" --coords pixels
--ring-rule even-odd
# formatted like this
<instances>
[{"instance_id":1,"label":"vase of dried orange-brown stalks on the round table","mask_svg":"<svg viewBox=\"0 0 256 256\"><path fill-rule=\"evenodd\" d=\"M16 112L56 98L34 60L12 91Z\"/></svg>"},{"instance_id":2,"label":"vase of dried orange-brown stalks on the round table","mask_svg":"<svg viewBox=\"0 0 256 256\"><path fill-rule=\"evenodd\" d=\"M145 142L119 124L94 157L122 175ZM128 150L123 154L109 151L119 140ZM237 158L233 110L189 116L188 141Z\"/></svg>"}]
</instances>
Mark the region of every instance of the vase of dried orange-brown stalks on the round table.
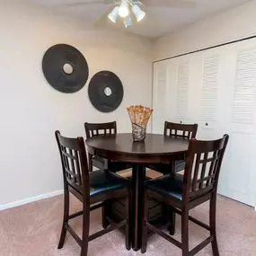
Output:
<instances>
[{"instance_id":1,"label":"vase of dried orange-brown stalks on the round table","mask_svg":"<svg viewBox=\"0 0 256 256\"><path fill-rule=\"evenodd\" d=\"M144 141L146 138L146 126L151 117L152 109L144 106L128 107L129 118L132 123L132 137L134 141Z\"/></svg>"}]
</instances>

